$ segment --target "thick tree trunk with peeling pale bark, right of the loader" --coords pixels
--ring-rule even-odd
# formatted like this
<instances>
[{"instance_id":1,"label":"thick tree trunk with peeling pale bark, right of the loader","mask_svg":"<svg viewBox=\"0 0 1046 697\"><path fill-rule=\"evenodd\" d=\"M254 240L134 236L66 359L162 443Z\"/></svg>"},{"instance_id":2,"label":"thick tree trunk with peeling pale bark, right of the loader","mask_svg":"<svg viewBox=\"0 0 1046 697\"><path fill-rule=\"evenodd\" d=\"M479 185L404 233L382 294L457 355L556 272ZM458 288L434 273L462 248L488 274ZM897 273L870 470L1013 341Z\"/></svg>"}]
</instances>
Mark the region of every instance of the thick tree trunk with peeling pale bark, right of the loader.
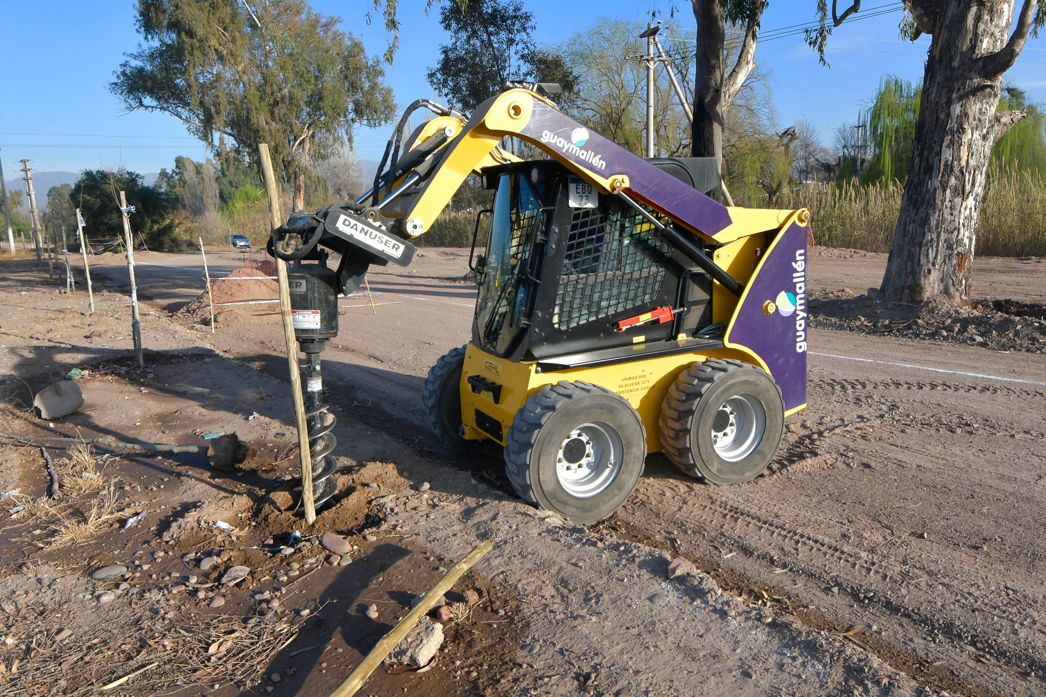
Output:
<instances>
[{"instance_id":1,"label":"thick tree trunk with peeling pale bark, right of the loader","mask_svg":"<svg viewBox=\"0 0 1046 697\"><path fill-rule=\"evenodd\" d=\"M881 286L889 300L917 303L943 295L964 302L969 296L992 146L1020 120L996 113L1002 73L1023 47L1028 8L1034 4L1025 1L1022 22L1008 43L1014 0L909 4L919 29L933 39L911 165Z\"/></svg>"}]
</instances>

